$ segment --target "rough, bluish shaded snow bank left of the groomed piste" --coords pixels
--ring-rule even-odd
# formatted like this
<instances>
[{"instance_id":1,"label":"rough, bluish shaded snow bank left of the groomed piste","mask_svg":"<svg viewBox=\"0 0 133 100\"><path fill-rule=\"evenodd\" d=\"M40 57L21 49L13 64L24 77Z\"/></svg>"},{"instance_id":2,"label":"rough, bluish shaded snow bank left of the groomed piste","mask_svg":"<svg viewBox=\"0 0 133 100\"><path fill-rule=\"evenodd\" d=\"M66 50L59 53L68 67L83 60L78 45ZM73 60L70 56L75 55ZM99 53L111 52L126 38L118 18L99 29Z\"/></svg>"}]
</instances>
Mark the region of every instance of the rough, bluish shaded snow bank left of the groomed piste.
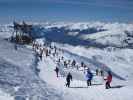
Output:
<instances>
[{"instance_id":1,"label":"rough, bluish shaded snow bank left of the groomed piste","mask_svg":"<svg viewBox=\"0 0 133 100\"><path fill-rule=\"evenodd\" d=\"M18 45L15 50L14 44L0 38L0 88L12 98L60 100L60 92L38 77L35 62L32 49Z\"/></svg>"}]
</instances>

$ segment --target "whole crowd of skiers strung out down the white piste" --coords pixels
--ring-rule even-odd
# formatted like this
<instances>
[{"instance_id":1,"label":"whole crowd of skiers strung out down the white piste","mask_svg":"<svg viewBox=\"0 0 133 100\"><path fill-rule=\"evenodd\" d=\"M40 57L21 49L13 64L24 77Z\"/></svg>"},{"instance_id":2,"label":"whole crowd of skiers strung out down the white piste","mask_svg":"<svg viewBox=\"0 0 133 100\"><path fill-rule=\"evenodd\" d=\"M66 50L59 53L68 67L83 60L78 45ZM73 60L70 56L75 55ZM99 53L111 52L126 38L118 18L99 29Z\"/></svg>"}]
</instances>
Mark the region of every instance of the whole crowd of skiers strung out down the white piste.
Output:
<instances>
[{"instance_id":1,"label":"whole crowd of skiers strung out down the white piste","mask_svg":"<svg viewBox=\"0 0 133 100\"><path fill-rule=\"evenodd\" d=\"M51 53L52 49L54 49L54 53ZM46 57L49 56L50 54L53 54L53 57L56 57L55 55L58 54L57 52L57 47L54 46L50 46L49 48L47 47L42 47L41 45L39 45L38 43L33 43L33 50L35 50L38 53L38 56L40 58L40 60L42 60L42 55L43 53L45 53ZM69 66L75 67L77 68L77 70L79 69L79 65L77 65L76 60L65 60L64 57L62 56L61 58L58 59L58 63L61 63L61 60L63 61L63 65L65 68L68 68ZM84 68L84 74L86 72L86 81L87 81L87 86L91 86L92 85L92 80L93 80L93 73L91 72L91 70L89 68L87 68L87 66L85 65L85 63L82 61L80 67ZM86 71L87 68L87 71ZM59 66L56 66L56 68L54 69L54 71L56 72L56 77L59 77ZM104 71L103 70L99 70L96 69L96 75L101 75L104 76ZM111 71L108 71L108 76L106 79L106 83L105 83L105 87L106 89L111 88L110 83L112 81L112 73ZM66 76L66 87L70 87L70 83L72 81L72 74L69 72Z\"/></svg>"}]
</instances>

